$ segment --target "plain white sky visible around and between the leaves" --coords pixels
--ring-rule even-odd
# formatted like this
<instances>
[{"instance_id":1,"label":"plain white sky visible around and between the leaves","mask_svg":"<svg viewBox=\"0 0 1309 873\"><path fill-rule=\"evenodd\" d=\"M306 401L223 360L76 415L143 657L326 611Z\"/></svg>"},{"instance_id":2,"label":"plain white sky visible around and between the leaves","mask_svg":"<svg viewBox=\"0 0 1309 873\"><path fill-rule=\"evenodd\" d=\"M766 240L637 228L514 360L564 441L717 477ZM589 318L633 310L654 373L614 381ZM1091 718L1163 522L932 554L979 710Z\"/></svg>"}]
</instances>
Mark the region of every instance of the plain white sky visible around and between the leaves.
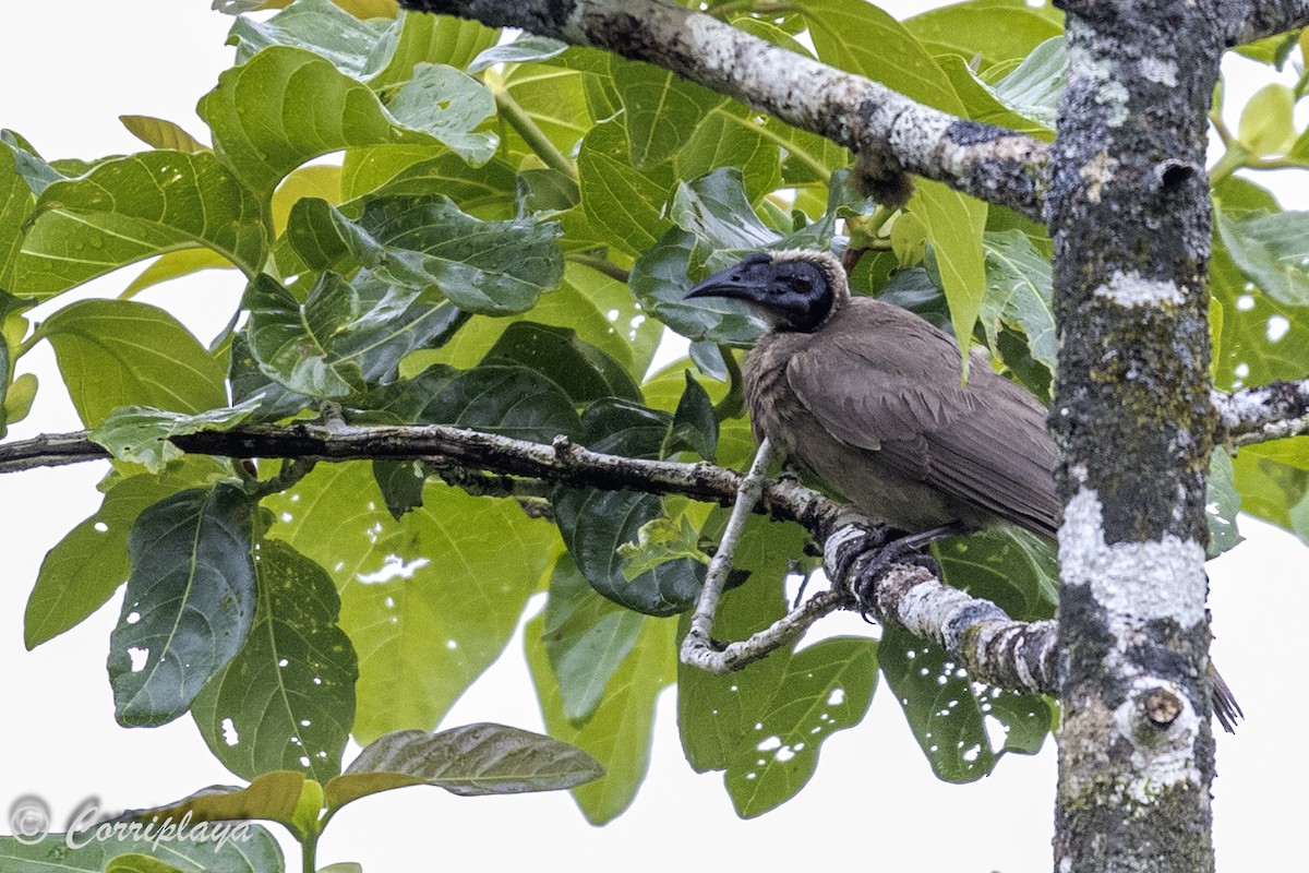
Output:
<instances>
[{"instance_id":1,"label":"plain white sky visible around and between the leaves","mask_svg":"<svg viewBox=\"0 0 1309 873\"><path fill-rule=\"evenodd\" d=\"M935 4L890 5L911 10ZM0 17L0 126L21 132L47 158L140 151L119 114L173 119L203 139L194 106L230 62L232 50L223 45L229 25L230 18L209 12L207 0L7 3ZM1229 81L1228 105L1240 106L1240 96L1250 90L1244 75ZM1289 204L1284 188L1279 192ZM115 296L137 271L109 276L85 293ZM170 308L208 340L240 291L234 274L213 274L162 287L145 300ZM38 373L43 390L33 416L10 438L76 429L48 351L24 357L20 370ZM101 465L79 465L0 476L8 575L0 585L4 813L18 796L35 793L62 822L90 794L106 808L149 806L238 781L209 755L188 717L156 730L115 725L103 662L118 598L69 633L24 650L22 610L41 559L98 505L93 486L102 472ZM1240 734L1219 737L1215 832L1219 863L1229 869L1278 868L1302 857L1300 828L1309 811L1302 793L1309 764L1297 739L1309 704L1293 679L1299 670L1289 669L1301 662L1293 640L1302 636L1297 616L1309 609L1309 552L1258 522L1244 520L1242 530L1249 542L1211 564L1215 653L1247 713ZM852 620L838 630L861 627ZM520 653L521 643L511 643L507 657L444 725L503 721L539 730ZM923 873L1049 869L1055 788L1049 743L1037 758L1003 760L980 783L945 785L932 777L882 688L863 725L827 741L818 772L798 798L741 822L721 777L696 776L686 766L674 715L674 700L665 695L651 775L632 809L605 828L588 826L563 793L457 798L410 788L342 813L323 838L319 864L360 861L369 873L411 870L420 861L547 873L609 865L662 872L674 864L778 870L816 860ZM288 863L296 868L298 856Z\"/></svg>"}]
</instances>

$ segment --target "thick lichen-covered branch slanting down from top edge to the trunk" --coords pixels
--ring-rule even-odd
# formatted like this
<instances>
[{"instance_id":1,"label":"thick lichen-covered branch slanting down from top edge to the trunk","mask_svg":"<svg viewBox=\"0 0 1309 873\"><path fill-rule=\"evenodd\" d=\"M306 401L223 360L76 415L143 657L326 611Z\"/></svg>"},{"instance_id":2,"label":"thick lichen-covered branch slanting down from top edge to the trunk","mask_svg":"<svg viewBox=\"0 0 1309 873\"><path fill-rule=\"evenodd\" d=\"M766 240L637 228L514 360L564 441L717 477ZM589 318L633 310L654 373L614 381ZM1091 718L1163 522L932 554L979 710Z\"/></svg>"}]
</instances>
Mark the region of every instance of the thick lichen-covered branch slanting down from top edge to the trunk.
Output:
<instances>
[{"instance_id":1,"label":"thick lichen-covered branch slanting down from top edge to the trunk","mask_svg":"<svg viewBox=\"0 0 1309 873\"><path fill-rule=\"evenodd\" d=\"M885 173L916 173L1045 220L1050 148L1016 131L918 103L661 0L401 0L401 5L522 27L672 71L848 147Z\"/></svg>"}]
</instances>

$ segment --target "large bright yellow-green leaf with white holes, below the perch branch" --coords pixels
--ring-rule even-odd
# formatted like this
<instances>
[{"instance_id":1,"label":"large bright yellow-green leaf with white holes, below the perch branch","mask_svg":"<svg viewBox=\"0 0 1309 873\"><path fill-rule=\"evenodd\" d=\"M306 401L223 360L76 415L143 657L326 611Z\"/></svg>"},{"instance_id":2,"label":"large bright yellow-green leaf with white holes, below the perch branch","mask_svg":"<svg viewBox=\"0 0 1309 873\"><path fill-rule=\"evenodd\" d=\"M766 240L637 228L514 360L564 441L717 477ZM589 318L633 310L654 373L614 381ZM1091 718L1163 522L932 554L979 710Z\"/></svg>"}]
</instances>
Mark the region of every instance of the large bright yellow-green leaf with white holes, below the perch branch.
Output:
<instances>
[{"instance_id":1,"label":"large bright yellow-green leaf with white holes, below the perch branch","mask_svg":"<svg viewBox=\"0 0 1309 873\"><path fill-rule=\"evenodd\" d=\"M285 539L323 567L359 653L353 733L431 730L508 644L558 548L513 500L428 484L391 518L368 463L319 465L264 500Z\"/></svg>"}]
</instances>

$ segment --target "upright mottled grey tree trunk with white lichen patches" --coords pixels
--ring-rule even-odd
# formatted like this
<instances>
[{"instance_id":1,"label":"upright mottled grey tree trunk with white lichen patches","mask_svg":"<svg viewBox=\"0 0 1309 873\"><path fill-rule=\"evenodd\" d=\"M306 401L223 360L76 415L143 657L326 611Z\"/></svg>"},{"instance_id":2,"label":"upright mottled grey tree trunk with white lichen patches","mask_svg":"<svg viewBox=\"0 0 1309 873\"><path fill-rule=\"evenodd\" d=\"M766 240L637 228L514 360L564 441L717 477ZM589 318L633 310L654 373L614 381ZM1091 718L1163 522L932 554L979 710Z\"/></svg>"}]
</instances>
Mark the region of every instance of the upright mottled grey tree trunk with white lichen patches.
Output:
<instances>
[{"instance_id":1,"label":"upright mottled grey tree trunk with white lichen patches","mask_svg":"<svg viewBox=\"0 0 1309 873\"><path fill-rule=\"evenodd\" d=\"M1055 869L1211 870L1207 1L1069 3L1049 192L1063 347Z\"/></svg>"}]
</instances>

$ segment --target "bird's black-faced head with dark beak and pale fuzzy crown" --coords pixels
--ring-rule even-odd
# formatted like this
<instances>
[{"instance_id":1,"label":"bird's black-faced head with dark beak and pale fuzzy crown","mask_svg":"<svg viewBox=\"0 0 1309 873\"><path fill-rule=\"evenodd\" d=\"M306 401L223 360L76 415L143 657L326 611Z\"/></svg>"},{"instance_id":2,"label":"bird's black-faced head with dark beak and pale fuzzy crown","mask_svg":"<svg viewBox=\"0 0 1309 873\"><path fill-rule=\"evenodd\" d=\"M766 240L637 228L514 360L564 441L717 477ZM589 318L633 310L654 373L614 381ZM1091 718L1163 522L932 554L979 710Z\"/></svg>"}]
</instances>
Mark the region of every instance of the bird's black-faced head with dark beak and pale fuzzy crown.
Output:
<instances>
[{"instance_id":1,"label":"bird's black-faced head with dark beak and pale fuzzy crown","mask_svg":"<svg viewBox=\"0 0 1309 873\"><path fill-rule=\"evenodd\" d=\"M744 300L774 330L817 330L850 298L840 262L826 251L759 251L687 292Z\"/></svg>"}]
</instances>

